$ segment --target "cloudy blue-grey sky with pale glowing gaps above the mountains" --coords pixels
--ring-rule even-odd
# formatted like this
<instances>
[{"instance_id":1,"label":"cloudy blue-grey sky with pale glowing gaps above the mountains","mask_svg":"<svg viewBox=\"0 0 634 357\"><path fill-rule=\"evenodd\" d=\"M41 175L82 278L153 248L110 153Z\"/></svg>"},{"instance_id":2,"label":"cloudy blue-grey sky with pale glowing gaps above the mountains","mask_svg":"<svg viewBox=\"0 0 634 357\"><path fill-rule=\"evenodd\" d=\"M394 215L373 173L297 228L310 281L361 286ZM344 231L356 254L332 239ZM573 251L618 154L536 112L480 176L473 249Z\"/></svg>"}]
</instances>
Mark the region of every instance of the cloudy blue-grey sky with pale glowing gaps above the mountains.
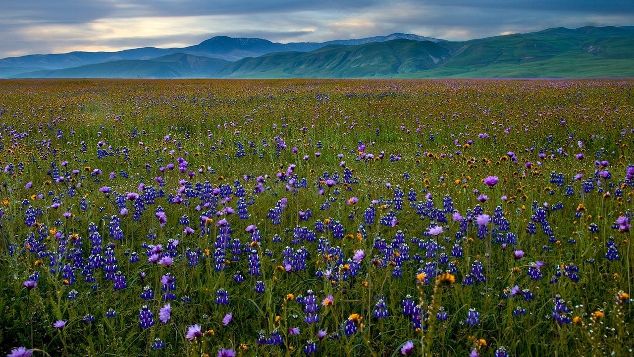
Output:
<instances>
[{"instance_id":1,"label":"cloudy blue-grey sky with pale glowing gaps above the mountains","mask_svg":"<svg viewBox=\"0 0 634 357\"><path fill-rule=\"evenodd\" d=\"M465 40L586 25L634 25L634 0L0 0L0 58L181 47L216 35Z\"/></svg>"}]
</instances>

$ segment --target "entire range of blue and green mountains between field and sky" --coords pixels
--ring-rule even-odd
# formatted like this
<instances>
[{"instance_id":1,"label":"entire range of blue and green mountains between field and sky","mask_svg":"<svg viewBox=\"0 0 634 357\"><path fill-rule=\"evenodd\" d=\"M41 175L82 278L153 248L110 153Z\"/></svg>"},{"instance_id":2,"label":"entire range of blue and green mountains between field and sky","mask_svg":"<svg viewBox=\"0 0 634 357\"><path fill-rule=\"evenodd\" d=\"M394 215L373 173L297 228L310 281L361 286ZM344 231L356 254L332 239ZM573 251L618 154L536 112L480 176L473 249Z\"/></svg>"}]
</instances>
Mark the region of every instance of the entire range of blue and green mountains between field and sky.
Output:
<instances>
[{"instance_id":1,"label":"entire range of blue and green mountains between field and sky","mask_svg":"<svg viewBox=\"0 0 634 357\"><path fill-rule=\"evenodd\" d=\"M0 77L628 77L634 27L562 27L444 41L391 34L273 43L212 37L185 48L135 48L0 59Z\"/></svg>"}]
</instances>

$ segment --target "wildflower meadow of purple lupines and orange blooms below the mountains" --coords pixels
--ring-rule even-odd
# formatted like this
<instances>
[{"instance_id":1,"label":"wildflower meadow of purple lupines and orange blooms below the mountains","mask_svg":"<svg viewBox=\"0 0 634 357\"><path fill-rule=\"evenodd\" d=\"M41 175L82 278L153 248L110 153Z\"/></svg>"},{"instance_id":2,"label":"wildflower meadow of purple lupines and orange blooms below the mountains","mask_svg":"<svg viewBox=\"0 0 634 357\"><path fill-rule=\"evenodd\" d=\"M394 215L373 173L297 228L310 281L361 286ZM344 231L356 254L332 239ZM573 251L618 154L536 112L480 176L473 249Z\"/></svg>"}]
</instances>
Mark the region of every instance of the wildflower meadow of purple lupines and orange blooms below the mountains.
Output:
<instances>
[{"instance_id":1,"label":"wildflower meadow of purple lupines and orange blooms below the mountains","mask_svg":"<svg viewBox=\"0 0 634 357\"><path fill-rule=\"evenodd\" d=\"M632 354L632 81L0 84L3 355Z\"/></svg>"}]
</instances>

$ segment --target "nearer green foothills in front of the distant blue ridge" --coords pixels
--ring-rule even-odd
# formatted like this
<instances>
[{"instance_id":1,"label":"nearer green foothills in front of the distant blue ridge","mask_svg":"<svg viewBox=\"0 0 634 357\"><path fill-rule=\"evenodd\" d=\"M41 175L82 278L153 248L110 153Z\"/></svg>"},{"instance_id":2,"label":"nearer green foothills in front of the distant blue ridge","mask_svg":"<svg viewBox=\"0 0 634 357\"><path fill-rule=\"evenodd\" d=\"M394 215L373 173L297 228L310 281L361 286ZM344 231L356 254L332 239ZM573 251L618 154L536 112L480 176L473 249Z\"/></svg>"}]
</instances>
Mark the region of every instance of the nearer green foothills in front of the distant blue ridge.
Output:
<instances>
[{"instance_id":1,"label":"nearer green foothills in front of the distant blue ridge","mask_svg":"<svg viewBox=\"0 0 634 357\"><path fill-rule=\"evenodd\" d=\"M634 27L557 27L460 42L395 39L236 62L178 53L15 77L630 77Z\"/></svg>"}]
</instances>

